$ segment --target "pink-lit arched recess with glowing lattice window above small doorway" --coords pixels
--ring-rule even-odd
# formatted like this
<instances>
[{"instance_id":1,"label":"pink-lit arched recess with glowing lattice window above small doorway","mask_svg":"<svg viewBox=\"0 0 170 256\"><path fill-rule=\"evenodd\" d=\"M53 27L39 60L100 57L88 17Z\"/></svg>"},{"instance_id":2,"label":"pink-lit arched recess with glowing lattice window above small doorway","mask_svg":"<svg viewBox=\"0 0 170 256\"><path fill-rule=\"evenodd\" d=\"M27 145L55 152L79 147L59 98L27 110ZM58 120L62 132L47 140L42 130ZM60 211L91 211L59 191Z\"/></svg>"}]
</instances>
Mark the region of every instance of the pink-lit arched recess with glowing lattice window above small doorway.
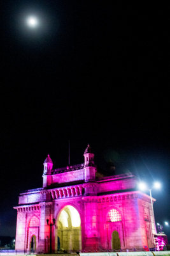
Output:
<instances>
[{"instance_id":1,"label":"pink-lit arched recess with glowing lattice window above small doorway","mask_svg":"<svg viewBox=\"0 0 170 256\"><path fill-rule=\"evenodd\" d=\"M112 250L120 250L120 241L124 241L124 230L122 225L122 216L120 212L118 212L117 209L110 209L106 216L106 221L108 248ZM124 243L122 244L124 247Z\"/></svg>"}]
</instances>

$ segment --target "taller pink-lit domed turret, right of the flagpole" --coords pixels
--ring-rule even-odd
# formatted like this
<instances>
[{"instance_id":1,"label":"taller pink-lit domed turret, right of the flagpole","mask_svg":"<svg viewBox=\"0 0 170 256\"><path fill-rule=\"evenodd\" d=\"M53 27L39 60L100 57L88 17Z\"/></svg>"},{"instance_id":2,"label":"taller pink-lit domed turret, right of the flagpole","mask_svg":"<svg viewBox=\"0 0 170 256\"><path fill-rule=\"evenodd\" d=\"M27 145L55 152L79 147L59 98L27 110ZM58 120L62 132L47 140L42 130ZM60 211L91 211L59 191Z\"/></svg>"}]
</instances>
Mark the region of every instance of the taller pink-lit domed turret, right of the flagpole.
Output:
<instances>
[{"instance_id":1,"label":"taller pink-lit domed turret, right of the flagpole","mask_svg":"<svg viewBox=\"0 0 170 256\"><path fill-rule=\"evenodd\" d=\"M85 182L96 180L96 167L94 165L94 154L91 152L90 145L87 145L87 148L84 152L85 163Z\"/></svg>"}]
</instances>

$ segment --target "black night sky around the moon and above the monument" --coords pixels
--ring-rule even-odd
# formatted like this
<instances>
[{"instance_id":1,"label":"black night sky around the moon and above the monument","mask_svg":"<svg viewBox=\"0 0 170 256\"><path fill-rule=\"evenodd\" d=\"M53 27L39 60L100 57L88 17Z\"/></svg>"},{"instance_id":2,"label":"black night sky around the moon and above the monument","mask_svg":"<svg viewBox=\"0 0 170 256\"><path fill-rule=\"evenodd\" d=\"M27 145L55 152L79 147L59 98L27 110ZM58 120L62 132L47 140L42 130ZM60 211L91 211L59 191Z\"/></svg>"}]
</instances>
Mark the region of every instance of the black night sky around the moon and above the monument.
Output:
<instances>
[{"instance_id":1,"label":"black night sky around the moon and above the monument","mask_svg":"<svg viewBox=\"0 0 170 256\"><path fill-rule=\"evenodd\" d=\"M3 1L0 235L15 236L20 191L42 186L43 161L83 162L162 182L155 219L169 216L169 19L166 6L118 1ZM152 8L148 13L141 9ZM33 13L42 20L31 31ZM164 231L170 234L170 227ZM170 237L169 237L170 239Z\"/></svg>"}]
</instances>

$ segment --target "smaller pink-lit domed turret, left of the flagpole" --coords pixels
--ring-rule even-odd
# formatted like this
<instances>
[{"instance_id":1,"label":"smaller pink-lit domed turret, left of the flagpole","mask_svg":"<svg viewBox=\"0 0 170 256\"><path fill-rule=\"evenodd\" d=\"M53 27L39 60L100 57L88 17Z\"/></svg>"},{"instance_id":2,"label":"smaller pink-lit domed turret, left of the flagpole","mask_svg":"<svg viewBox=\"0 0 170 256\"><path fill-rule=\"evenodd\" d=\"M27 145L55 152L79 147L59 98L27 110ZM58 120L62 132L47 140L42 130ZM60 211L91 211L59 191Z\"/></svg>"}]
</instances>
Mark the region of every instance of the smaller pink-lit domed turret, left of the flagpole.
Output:
<instances>
[{"instance_id":1,"label":"smaller pink-lit domed turret, left of the flagpole","mask_svg":"<svg viewBox=\"0 0 170 256\"><path fill-rule=\"evenodd\" d=\"M53 168L53 161L50 158L50 155L46 157L44 161L44 172L43 172L43 188L50 186L51 184L51 174L52 174L52 168Z\"/></svg>"}]
</instances>

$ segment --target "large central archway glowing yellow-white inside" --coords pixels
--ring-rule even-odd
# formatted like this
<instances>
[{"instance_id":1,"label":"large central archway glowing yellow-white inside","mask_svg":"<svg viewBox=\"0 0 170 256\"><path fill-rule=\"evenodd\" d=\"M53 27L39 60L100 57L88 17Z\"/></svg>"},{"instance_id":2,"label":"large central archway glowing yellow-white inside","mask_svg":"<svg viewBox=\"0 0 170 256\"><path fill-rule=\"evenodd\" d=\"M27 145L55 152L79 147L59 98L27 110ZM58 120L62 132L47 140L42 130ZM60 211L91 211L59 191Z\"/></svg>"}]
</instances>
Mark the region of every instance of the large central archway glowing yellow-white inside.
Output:
<instances>
[{"instance_id":1,"label":"large central archway glowing yellow-white inside","mask_svg":"<svg viewBox=\"0 0 170 256\"><path fill-rule=\"evenodd\" d=\"M81 250L81 220L78 211L71 205L62 209L57 218L57 248L60 251ZM59 237L59 238L58 238ZM60 246L59 246L60 245Z\"/></svg>"}]
</instances>

